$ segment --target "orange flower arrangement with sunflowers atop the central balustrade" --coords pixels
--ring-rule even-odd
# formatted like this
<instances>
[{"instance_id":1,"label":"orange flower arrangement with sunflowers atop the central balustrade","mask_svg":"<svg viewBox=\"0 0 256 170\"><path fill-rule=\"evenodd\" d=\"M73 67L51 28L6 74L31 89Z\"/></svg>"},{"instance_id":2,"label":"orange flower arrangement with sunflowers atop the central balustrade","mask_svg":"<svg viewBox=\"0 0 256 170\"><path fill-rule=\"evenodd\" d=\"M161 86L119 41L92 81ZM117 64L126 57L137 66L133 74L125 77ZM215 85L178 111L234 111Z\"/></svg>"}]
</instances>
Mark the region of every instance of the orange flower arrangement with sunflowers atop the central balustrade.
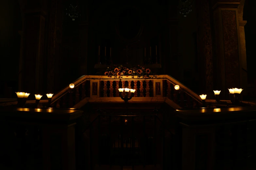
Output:
<instances>
[{"instance_id":1,"label":"orange flower arrangement with sunflowers atop the central balustrade","mask_svg":"<svg viewBox=\"0 0 256 170\"><path fill-rule=\"evenodd\" d=\"M121 78L121 76L132 76L132 78L134 78L134 76L137 76L138 78L151 78L150 75L152 75L152 73L149 68L145 68L140 65L131 68L123 67L122 65L117 67L117 65L114 65L114 67L108 67L104 75L110 78L112 76L115 78Z\"/></svg>"}]
</instances>

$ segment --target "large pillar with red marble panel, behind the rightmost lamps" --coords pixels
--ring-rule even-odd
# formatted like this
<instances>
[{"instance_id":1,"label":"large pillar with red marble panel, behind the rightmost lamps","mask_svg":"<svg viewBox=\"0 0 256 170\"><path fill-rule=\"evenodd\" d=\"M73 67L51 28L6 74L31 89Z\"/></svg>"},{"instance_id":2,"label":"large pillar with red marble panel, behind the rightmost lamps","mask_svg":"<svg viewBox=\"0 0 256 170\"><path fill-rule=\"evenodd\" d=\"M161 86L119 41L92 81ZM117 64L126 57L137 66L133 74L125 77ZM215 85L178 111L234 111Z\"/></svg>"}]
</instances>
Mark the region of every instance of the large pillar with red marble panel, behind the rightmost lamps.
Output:
<instances>
[{"instance_id":1,"label":"large pillar with red marble panel, behind the rightmost lamps","mask_svg":"<svg viewBox=\"0 0 256 170\"><path fill-rule=\"evenodd\" d=\"M212 1L218 68L217 83L221 95L223 97L225 95L226 98L228 98L228 89L244 89L247 86L247 82L243 83L244 60L242 58L238 19L239 4L240 0L233 0L233 2L229 0Z\"/></svg>"}]
</instances>

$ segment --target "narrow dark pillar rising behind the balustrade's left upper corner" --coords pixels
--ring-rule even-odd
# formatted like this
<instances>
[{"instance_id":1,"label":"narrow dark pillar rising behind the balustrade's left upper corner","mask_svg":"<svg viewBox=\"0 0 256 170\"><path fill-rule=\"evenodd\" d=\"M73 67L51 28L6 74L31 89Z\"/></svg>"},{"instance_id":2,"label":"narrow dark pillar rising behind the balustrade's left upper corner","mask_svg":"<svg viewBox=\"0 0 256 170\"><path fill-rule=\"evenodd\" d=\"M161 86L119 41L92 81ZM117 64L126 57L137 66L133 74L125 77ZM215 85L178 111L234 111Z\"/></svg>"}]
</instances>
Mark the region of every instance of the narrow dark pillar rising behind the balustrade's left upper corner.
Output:
<instances>
[{"instance_id":1,"label":"narrow dark pillar rising behind the balustrade's left upper corner","mask_svg":"<svg viewBox=\"0 0 256 170\"><path fill-rule=\"evenodd\" d=\"M87 51L88 51L88 5L87 1L79 2L79 12L81 13L79 22L80 50L79 50L79 74L87 74Z\"/></svg>"}]
</instances>

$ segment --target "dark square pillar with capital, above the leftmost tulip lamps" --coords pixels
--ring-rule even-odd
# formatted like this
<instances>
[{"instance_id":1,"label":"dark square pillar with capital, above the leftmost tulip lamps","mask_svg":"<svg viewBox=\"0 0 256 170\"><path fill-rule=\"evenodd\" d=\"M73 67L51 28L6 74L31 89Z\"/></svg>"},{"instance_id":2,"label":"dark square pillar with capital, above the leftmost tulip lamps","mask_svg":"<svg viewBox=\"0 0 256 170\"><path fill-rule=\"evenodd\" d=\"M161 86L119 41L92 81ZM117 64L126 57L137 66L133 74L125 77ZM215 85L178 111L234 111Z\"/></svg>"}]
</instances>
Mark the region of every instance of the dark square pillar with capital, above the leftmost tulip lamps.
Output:
<instances>
[{"instance_id":1,"label":"dark square pillar with capital, above the leftmost tulip lamps","mask_svg":"<svg viewBox=\"0 0 256 170\"><path fill-rule=\"evenodd\" d=\"M22 90L29 93L42 92L45 11L37 7L24 10Z\"/></svg>"}]
</instances>

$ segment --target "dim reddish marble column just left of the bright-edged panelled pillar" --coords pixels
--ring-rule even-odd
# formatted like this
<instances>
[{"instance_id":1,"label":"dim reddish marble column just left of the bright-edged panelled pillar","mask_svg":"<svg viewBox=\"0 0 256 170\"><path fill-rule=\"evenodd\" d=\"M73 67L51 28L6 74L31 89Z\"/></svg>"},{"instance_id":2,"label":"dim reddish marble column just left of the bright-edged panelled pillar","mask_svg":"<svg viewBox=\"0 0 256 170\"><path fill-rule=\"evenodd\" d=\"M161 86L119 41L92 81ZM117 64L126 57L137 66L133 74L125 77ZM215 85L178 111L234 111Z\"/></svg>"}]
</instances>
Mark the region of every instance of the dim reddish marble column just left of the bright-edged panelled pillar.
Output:
<instances>
[{"instance_id":1,"label":"dim reddish marble column just left of the bright-edged panelled pillar","mask_svg":"<svg viewBox=\"0 0 256 170\"><path fill-rule=\"evenodd\" d=\"M196 1L198 72L201 93L213 97L213 52L209 0Z\"/></svg>"}]
</instances>

